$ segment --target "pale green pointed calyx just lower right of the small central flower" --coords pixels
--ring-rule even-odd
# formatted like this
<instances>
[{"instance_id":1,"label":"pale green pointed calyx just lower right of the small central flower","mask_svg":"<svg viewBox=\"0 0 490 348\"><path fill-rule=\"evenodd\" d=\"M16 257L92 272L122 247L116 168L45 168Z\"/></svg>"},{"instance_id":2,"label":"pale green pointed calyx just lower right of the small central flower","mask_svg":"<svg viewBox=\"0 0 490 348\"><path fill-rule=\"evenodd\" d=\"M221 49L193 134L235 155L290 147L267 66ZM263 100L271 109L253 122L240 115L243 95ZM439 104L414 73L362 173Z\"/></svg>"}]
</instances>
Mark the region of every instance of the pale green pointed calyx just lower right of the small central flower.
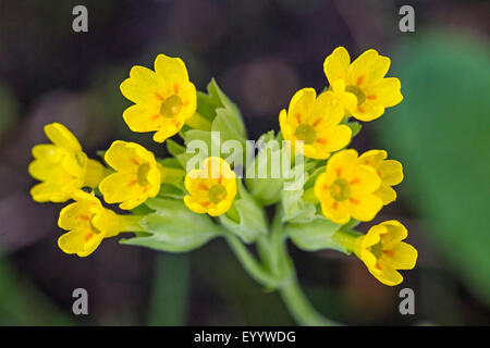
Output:
<instances>
[{"instance_id":1,"label":"pale green pointed calyx just lower right of the small central flower","mask_svg":"<svg viewBox=\"0 0 490 348\"><path fill-rule=\"evenodd\" d=\"M267 234L266 214L241 179L237 179L237 198L231 210L233 214L223 214L218 219L229 232L237 235L244 243L253 243L259 235Z\"/></svg>"}]
</instances>

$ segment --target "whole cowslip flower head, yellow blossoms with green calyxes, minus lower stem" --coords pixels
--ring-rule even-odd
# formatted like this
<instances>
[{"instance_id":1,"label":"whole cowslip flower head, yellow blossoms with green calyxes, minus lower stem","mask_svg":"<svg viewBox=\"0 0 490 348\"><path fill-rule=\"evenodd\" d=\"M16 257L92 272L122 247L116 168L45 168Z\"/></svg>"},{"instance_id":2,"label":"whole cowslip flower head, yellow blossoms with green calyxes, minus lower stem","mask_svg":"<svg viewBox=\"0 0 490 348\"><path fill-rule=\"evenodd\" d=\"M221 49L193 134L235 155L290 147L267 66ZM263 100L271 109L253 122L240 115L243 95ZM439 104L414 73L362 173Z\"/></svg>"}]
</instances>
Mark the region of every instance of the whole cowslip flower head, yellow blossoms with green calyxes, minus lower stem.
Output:
<instances>
[{"instance_id":1,"label":"whole cowslip flower head, yellow blossoms with green calyxes, minus lower stem","mask_svg":"<svg viewBox=\"0 0 490 348\"><path fill-rule=\"evenodd\" d=\"M319 95L313 88L294 94L279 113L280 132L260 137L266 145L282 144L272 154L259 148L248 161L247 151L228 157L221 148L215 151L221 141L247 141L236 105L215 80L207 91L196 91L184 62L159 54L155 71L134 66L121 84L134 102L122 117L133 132L166 142L171 157L159 159L138 144L117 140L105 152L105 165L89 159L63 125L49 124L45 132L52 144L33 148L29 173L41 182L33 187L33 199L74 201L60 214L59 226L69 232L59 247L79 257L123 232L135 235L121 243L166 251L193 250L221 236L255 278L281 290L294 274L283 246L291 238L306 250L354 252L381 283L400 284L397 270L414 268L417 259L402 241L406 228L397 221L375 225L366 235L354 227L396 199L392 187L403 179L402 164L384 150L359 156L347 148L362 127L352 117L372 121L402 101L400 80L385 77L389 67L390 59L376 50L351 62L346 49L336 48L323 64L329 86ZM175 135L181 140L170 139ZM243 179L237 174L264 167L270 173L278 153L289 157L278 164L281 173L302 178L295 189L286 188L287 175ZM124 212L115 213L111 204ZM273 217L269 206L275 207ZM253 243L264 265L242 246Z\"/></svg>"}]
</instances>

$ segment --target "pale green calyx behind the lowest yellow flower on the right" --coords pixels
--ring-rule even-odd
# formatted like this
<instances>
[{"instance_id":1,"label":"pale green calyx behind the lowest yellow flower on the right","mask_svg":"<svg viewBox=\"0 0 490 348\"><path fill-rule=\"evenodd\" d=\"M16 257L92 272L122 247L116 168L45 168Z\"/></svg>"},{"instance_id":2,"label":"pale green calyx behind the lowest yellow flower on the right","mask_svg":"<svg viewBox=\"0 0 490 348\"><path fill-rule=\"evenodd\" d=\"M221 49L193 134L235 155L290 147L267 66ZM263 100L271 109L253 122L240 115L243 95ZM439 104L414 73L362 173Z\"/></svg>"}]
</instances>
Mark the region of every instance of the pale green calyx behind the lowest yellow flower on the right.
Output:
<instances>
[{"instance_id":1,"label":"pale green calyx behind the lowest yellow flower on the right","mask_svg":"<svg viewBox=\"0 0 490 348\"><path fill-rule=\"evenodd\" d=\"M334 249L350 253L345 247L332 238L340 227L341 225L323 217L306 224L289 224L286 233L296 246L306 251Z\"/></svg>"}]
</instances>

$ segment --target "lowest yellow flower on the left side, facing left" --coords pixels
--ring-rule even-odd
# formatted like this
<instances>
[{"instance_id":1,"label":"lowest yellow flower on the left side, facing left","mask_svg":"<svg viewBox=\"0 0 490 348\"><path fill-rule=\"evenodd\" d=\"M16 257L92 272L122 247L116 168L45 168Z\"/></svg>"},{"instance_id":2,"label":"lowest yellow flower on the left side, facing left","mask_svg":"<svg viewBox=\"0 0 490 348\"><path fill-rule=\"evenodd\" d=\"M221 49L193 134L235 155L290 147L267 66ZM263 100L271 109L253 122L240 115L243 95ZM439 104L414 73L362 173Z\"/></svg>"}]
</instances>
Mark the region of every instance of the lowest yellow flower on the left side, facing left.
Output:
<instances>
[{"instance_id":1,"label":"lowest yellow flower on the left side, facing left","mask_svg":"<svg viewBox=\"0 0 490 348\"><path fill-rule=\"evenodd\" d=\"M58 239L58 246L65 253L87 257L103 238L120 234L122 225L119 215L103 208L97 197L77 191L74 199L74 203L60 212L58 225L69 232Z\"/></svg>"}]
</instances>

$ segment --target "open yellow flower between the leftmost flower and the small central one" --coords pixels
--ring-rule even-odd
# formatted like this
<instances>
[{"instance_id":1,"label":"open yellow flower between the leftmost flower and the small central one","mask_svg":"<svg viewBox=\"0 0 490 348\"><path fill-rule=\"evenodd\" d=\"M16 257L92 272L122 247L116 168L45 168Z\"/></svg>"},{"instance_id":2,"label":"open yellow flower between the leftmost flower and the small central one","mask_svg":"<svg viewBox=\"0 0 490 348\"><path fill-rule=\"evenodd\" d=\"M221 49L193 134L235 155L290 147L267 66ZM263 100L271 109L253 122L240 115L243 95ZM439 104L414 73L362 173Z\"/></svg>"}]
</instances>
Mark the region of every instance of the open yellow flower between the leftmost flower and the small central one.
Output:
<instances>
[{"instance_id":1,"label":"open yellow flower between the leftmost flower and the small central one","mask_svg":"<svg viewBox=\"0 0 490 348\"><path fill-rule=\"evenodd\" d=\"M155 156L135 142L114 141L106 162L115 170L99 185L106 202L131 210L160 191L161 175Z\"/></svg>"}]
</instances>

